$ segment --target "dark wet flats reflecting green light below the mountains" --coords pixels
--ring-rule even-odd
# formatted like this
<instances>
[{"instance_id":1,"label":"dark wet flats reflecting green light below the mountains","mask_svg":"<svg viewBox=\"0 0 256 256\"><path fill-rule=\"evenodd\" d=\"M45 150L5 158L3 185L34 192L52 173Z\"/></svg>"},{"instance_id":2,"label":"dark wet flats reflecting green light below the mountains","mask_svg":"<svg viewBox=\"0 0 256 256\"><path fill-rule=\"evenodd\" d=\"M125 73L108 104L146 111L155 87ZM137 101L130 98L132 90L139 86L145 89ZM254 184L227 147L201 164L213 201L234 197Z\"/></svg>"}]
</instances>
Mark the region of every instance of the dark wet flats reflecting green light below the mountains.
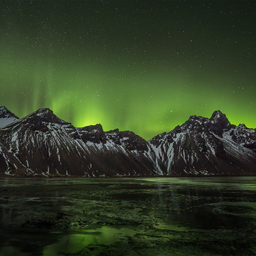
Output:
<instances>
[{"instance_id":1,"label":"dark wet flats reflecting green light below the mountains","mask_svg":"<svg viewBox=\"0 0 256 256\"><path fill-rule=\"evenodd\" d=\"M256 255L256 178L0 178L0 255Z\"/></svg>"}]
</instances>

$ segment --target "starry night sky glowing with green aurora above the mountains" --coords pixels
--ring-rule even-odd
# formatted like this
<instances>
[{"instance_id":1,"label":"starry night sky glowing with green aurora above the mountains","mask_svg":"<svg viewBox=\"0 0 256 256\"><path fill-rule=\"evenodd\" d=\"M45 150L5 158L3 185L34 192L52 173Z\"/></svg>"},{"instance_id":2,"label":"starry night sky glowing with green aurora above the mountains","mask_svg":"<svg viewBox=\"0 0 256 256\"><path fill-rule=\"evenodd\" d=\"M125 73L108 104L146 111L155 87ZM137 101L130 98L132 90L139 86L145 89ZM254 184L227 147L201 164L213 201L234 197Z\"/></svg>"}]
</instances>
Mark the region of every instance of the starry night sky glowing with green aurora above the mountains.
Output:
<instances>
[{"instance_id":1,"label":"starry night sky glowing with green aurora above the mountains","mask_svg":"<svg viewBox=\"0 0 256 256\"><path fill-rule=\"evenodd\" d=\"M256 1L0 1L0 105L151 139L221 110L256 127Z\"/></svg>"}]
</instances>

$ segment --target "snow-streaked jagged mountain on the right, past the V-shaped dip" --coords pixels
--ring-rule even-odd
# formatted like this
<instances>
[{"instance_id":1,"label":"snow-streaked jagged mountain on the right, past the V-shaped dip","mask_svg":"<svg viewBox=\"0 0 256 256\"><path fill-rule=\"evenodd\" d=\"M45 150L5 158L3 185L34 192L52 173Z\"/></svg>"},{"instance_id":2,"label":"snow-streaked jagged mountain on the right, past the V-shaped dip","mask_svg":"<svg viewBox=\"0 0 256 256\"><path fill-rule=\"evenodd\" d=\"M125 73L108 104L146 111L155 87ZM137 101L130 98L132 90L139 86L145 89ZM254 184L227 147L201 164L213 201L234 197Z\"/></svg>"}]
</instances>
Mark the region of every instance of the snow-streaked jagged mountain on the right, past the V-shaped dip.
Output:
<instances>
[{"instance_id":1,"label":"snow-streaked jagged mountain on the right, past the V-shaped dip","mask_svg":"<svg viewBox=\"0 0 256 256\"><path fill-rule=\"evenodd\" d=\"M163 174L254 173L255 129L230 124L225 114L191 116L173 131L149 141Z\"/></svg>"}]
</instances>

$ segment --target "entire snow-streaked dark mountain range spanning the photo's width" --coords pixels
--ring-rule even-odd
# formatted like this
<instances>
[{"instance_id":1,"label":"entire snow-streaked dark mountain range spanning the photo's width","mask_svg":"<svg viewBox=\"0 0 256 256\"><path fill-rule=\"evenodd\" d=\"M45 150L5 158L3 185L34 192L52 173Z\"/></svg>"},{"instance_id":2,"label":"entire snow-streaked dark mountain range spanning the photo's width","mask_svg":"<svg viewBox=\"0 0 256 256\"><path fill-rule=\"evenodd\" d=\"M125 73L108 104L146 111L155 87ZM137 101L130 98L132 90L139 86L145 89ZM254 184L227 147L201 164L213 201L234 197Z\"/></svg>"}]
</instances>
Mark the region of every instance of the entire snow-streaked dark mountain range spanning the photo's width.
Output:
<instances>
[{"instance_id":1,"label":"entire snow-streaked dark mountain range spanning the photo's width","mask_svg":"<svg viewBox=\"0 0 256 256\"><path fill-rule=\"evenodd\" d=\"M74 127L46 108L19 119L0 107L0 174L242 176L256 174L256 133L225 114L191 116L146 141L134 132Z\"/></svg>"}]
</instances>

